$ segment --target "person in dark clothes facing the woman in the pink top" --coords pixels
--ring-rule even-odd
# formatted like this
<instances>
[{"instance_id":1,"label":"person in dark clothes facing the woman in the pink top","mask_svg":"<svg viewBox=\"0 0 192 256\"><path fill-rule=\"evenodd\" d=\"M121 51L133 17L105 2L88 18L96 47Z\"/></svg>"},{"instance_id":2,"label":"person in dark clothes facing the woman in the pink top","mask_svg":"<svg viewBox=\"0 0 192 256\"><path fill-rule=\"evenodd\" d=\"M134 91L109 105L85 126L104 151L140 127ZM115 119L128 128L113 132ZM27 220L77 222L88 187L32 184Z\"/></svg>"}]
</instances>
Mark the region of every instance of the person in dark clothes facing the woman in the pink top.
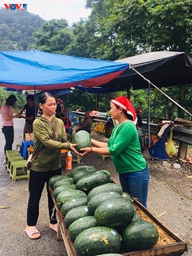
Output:
<instances>
[{"instance_id":1,"label":"person in dark clothes facing the woman in the pink top","mask_svg":"<svg viewBox=\"0 0 192 256\"><path fill-rule=\"evenodd\" d=\"M20 114L23 113L23 111L26 111L25 115L22 115L25 119L25 127L23 130L23 137L25 138L26 133L32 133L33 132L33 121L35 120L35 103L34 103L34 96L28 95L26 97L26 104L21 110Z\"/></svg>"}]
</instances>

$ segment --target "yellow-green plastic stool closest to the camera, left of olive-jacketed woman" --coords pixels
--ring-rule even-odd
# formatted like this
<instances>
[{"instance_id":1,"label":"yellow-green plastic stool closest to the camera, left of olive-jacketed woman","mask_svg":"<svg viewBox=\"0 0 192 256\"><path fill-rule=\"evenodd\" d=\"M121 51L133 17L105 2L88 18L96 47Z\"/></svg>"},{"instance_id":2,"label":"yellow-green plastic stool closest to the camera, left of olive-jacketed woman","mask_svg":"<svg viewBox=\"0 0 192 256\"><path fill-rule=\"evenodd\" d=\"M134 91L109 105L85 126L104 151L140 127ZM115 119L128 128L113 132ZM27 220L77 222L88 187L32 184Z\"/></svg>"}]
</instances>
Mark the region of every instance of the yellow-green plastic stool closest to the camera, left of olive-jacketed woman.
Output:
<instances>
[{"instance_id":1,"label":"yellow-green plastic stool closest to the camera, left of olive-jacketed woman","mask_svg":"<svg viewBox=\"0 0 192 256\"><path fill-rule=\"evenodd\" d=\"M11 162L10 177L12 178L13 182L15 182L16 179L29 179L29 171L26 169L26 160Z\"/></svg>"}]
</instances>

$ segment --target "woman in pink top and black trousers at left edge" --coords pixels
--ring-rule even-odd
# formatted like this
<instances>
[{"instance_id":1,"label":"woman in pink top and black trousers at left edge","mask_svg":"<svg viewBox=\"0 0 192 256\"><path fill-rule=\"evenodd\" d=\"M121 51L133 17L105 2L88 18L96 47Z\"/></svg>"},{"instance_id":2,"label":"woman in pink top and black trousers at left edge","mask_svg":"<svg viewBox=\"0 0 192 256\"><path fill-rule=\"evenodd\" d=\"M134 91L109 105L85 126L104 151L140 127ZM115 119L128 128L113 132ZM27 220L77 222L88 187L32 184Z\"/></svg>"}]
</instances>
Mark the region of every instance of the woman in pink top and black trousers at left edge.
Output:
<instances>
[{"instance_id":1,"label":"woman in pink top and black trousers at left edge","mask_svg":"<svg viewBox=\"0 0 192 256\"><path fill-rule=\"evenodd\" d=\"M16 101L17 98L15 97L15 95L10 95L1 108L2 132L5 136L4 153L6 152L6 150L12 150L12 145L14 141L13 118L21 117L20 113L13 115L13 111L10 108L14 107Z\"/></svg>"}]
</instances>

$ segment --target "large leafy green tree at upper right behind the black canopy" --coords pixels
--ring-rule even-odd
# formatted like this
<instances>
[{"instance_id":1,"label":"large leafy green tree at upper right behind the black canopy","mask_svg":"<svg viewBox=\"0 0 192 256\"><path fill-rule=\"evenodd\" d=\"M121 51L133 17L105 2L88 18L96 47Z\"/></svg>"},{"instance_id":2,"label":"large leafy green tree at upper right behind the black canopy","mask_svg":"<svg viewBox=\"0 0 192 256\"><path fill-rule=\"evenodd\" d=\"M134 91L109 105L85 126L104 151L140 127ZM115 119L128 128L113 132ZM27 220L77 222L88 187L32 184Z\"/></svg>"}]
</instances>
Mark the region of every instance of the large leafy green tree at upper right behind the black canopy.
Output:
<instances>
[{"instance_id":1,"label":"large leafy green tree at upper right behind the black canopy","mask_svg":"<svg viewBox=\"0 0 192 256\"><path fill-rule=\"evenodd\" d=\"M108 35L104 48L106 59L113 60L113 56L121 59L159 50L192 54L192 0L87 0L86 6L92 8L90 17L94 20L100 37ZM103 49L102 41L99 49ZM106 49L110 49L110 52ZM116 55L111 56L113 49ZM192 105L188 97L190 86L164 90L180 105ZM157 115L160 111L164 117L173 117L177 110L176 115L186 116L172 102L168 107L167 98L160 93L156 92L151 97ZM169 113L165 111L166 107L170 110Z\"/></svg>"}]
</instances>

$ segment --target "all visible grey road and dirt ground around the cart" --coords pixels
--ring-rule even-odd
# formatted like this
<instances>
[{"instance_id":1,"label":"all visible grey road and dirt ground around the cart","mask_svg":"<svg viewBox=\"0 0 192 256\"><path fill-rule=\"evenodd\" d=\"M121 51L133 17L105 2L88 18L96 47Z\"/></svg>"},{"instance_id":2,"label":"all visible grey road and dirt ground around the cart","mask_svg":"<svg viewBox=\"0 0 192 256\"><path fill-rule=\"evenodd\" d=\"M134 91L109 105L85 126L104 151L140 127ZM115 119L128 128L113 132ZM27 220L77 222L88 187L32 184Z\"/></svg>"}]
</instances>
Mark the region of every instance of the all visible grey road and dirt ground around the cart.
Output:
<instances>
[{"instance_id":1,"label":"all visible grey road and dirt ground around the cart","mask_svg":"<svg viewBox=\"0 0 192 256\"><path fill-rule=\"evenodd\" d=\"M14 148L20 142L24 127L22 119L14 120ZM95 139L107 141L99 134L92 134ZM24 229L26 225L26 209L28 202L28 182L26 179L13 183L3 165L4 137L0 133L0 255L3 256L67 256L63 242L58 242L56 234L48 228L48 206L46 190L44 189L40 202L40 215L37 228L41 238L32 241L27 238ZM189 152L191 154L191 152ZM148 210L167 228L188 244L188 253L192 256L192 166L181 164L177 159L169 161L147 160L151 172L149 183ZM173 167L180 164L180 169ZM111 159L101 159L96 154L90 154L82 159L81 164L94 165L97 169L106 169L119 182ZM73 164L73 167L76 163ZM65 175L69 172L64 171ZM150 255L149 255L150 256Z\"/></svg>"}]
</instances>

